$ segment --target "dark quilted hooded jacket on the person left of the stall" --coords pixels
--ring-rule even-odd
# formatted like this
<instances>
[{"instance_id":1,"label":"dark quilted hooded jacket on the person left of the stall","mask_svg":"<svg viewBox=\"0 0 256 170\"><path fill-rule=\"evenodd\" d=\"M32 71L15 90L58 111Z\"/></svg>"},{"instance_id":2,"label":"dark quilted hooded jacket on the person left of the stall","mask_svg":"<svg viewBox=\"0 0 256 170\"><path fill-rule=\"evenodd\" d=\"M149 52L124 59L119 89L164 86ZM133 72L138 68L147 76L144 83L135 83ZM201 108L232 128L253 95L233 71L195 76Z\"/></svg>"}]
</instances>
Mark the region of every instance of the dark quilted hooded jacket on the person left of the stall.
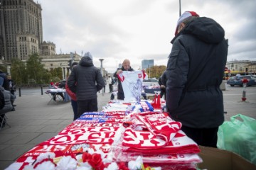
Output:
<instances>
[{"instance_id":1,"label":"dark quilted hooded jacket on the person left of the stall","mask_svg":"<svg viewBox=\"0 0 256 170\"><path fill-rule=\"evenodd\" d=\"M105 86L104 79L90 57L82 57L68 77L68 87L76 94L78 101L97 98L97 91Z\"/></svg>"}]
</instances>

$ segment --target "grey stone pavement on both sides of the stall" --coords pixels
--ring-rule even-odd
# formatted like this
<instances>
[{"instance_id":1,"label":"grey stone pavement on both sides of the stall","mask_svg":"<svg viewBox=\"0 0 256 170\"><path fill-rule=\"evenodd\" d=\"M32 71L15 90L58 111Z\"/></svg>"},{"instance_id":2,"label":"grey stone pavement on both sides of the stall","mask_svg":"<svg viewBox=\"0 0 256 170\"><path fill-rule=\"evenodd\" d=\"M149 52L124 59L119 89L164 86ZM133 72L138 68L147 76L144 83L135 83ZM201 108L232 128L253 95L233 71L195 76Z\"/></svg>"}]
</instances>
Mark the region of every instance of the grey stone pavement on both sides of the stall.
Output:
<instances>
[{"instance_id":1,"label":"grey stone pavement on both sides of the stall","mask_svg":"<svg viewBox=\"0 0 256 170\"><path fill-rule=\"evenodd\" d=\"M43 89L46 91L46 89ZM106 92L109 89L106 86ZM73 110L70 102L49 103L47 94L22 94L15 101L16 111L7 113L8 126L0 130L0 169L5 169L15 162L24 152L39 143L48 140L63 130L73 121ZM247 101L242 102L242 88L226 86L223 91L225 120L230 116L242 113L256 119L256 86L247 87ZM110 94L98 93L99 111L108 101ZM210 109L210 108L209 108Z\"/></svg>"}]
</instances>

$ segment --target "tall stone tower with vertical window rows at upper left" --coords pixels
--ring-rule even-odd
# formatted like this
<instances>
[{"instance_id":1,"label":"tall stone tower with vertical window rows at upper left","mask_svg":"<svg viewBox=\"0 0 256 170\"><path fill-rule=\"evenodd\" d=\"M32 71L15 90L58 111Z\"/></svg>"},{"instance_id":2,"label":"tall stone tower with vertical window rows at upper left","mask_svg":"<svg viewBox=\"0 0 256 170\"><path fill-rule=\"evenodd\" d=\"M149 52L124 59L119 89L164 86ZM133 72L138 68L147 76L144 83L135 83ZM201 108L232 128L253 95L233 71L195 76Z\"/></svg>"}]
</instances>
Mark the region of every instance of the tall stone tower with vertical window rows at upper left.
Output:
<instances>
[{"instance_id":1,"label":"tall stone tower with vertical window rows at upper left","mask_svg":"<svg viewBox=\"0 0 256 170\"><path fill-rule=\"evenodd\" d=\"M0 0L0 57L27 60L41 53L41 5L33 0Z\"/></svg>"}]
</instances>

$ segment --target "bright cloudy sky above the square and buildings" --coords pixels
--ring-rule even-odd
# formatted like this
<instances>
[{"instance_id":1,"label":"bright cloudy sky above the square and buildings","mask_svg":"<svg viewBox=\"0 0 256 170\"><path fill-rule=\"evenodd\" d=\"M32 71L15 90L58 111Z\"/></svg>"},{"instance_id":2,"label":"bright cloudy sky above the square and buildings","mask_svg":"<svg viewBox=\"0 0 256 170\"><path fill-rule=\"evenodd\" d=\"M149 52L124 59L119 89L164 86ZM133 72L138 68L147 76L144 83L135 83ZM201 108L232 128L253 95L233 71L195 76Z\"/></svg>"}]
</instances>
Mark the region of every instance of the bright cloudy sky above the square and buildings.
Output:
<instances>
[{"instance_id":1,"label":"bright cloudy sky above the square and buildings","mask_svg":"<svg viewBox=\"0 0 256 170\"><path fill-rule=\"evenodd\" d=\"M114 72L124 59L166 65L179 16L178 0L34 0L43 11L43 40L57 54L90 52L96 67ZM215 19L229 40L228 61L256 60L255 0L181 0L181 13Z\"/></svg>"}]
</instances>

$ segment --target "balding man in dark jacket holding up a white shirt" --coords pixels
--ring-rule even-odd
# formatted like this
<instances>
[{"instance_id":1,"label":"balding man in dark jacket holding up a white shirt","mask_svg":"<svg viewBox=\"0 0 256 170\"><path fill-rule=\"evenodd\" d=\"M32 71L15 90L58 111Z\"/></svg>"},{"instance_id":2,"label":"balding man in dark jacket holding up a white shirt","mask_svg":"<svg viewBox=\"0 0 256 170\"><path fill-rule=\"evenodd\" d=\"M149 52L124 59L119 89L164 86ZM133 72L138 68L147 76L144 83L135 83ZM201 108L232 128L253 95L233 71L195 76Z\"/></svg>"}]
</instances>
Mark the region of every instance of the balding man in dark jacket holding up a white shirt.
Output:
<instances>
[{"instance_id":1,"label":"balding man in dark jacket holding up a white shirt","mask_svg":"<svg viewBox=\"0 0 256 170\"><path fill-rule=\"evenodd\" d=\"M121 74L123 71L134 71L130 66L129 60L124 60L122 63L122 68L118 68L116 72L114 72L114 77L117 77L118 74ZM122 89L121 81L117 78L118 85L117 85L117 99L124 100L124 91Z\"/></svg>"}]
</instances>

